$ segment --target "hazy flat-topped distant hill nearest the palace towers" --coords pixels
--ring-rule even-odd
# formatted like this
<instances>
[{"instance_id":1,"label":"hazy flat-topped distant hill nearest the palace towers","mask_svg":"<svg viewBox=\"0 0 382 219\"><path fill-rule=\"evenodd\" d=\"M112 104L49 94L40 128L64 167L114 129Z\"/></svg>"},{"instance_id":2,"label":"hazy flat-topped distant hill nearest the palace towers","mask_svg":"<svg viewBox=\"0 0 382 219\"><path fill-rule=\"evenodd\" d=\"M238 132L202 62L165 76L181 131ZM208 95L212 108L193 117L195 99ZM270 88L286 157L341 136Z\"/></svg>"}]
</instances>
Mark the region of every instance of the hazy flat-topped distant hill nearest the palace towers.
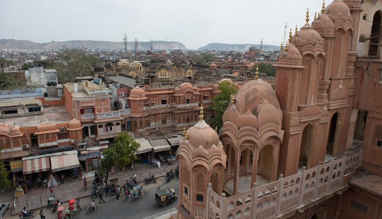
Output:
<instances>
[{"instance_id":1,"label":"hazy flat-topped distant hill nearest the palace towers","mask_svg":"<svg viewBox=\"0 0 382 219\"><path fill-rule=\"evenodd\" d=\"M225 43L209 43L200 47L198 50L216 50L216 51L248 51L249 47L260 49L260 44L225 44ZM280 46L263 45L265 51L280 50Z\"/></svg>"}]
</instances>

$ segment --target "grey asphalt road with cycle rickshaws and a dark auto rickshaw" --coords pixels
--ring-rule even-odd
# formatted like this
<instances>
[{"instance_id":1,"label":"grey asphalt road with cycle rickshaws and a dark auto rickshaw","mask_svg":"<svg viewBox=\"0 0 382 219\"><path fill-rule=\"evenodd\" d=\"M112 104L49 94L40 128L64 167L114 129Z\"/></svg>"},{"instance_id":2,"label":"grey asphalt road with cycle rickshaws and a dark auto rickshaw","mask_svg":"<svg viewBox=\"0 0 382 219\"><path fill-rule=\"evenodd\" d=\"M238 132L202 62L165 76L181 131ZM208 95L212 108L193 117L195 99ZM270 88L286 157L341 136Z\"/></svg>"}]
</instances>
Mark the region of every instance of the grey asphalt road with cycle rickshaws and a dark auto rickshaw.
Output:
<instances>
[{"instance_id":1,"label":"grey asphalt road with cycle rickshaws and a dark auto rickshaw","mask_svg":"<svg viewBox=\"0 0 382 219\"><path fill-rule=\"evenodd\" d=\"M156 205L155 202L155 192L158 189L173 188L177 194L179 194L179 180L173 179L168 184L164 184L164 177L158 178L157 183L150 183L145 185L141 183L145 190L150 191L148 196L142 196L138 198L137 202L123 201L124 197L121 195L119 200L115 199L115 195L109 198L104 197L106 203L98 204L99 198L95 198L95 203L102 207L101 212L94 212L91 215L87 215L85 211L79 214L79 219L144 219L162 212L166 212L173 209L179 201L175 201L166 207L160 207ZM90 197L83 198L81 200L83 203L90 203L92 200ZM67 203L65 203L65 208L67 208ZM50 211L51 212L51 211ZM53 216L53 215L52 215ZM37 218L37 217L36 217ZM47 217L47 219L54 219L54 217Z\"/></svg>"}]
</instances>

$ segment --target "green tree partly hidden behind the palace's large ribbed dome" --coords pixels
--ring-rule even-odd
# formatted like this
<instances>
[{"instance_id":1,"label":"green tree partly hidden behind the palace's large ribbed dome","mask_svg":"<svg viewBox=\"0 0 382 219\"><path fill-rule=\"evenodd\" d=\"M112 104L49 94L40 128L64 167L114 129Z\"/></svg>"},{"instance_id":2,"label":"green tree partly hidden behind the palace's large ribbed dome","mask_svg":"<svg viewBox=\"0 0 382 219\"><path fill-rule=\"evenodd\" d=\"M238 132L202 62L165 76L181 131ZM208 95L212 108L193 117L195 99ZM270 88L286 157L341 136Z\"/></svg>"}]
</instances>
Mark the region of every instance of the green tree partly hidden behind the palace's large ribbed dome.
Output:
<instances>
[{"instance_id":1,"label":"green tree partly hidden behind the palace's large ribbed dome","mask_svg":"<svg viewBox=\"0 0 382 219\"><path fill-rule=\"evenodd\" d=\"M236 94L238 87L229 81L222 81L218 89L221 92L212 98L213 104L209 106L209 109L213 109L214 112L212 127L217 126L217 130L220 130L223 127L223 113L228 108L231 94Z\"/></svg>"}]
</instances>

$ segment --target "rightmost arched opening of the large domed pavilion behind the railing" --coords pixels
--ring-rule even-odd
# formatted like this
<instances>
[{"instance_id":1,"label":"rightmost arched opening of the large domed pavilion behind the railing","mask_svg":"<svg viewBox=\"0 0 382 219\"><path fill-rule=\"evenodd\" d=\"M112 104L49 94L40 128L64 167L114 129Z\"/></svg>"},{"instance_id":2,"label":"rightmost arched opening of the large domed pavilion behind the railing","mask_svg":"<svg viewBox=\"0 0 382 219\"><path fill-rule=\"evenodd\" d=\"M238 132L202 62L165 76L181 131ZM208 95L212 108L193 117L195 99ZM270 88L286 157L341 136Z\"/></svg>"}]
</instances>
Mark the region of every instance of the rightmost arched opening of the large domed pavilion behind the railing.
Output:
<instances>
[{"instance_id":1,"label":"rightmost arched opening of the large domed pavilion behind the railing","mask_svg":"<svg viewBox=\"0 0 382 219\"><path fill-rule=\"evenodd\" d=\"M258 161L258 175L266 178L268 182L272 181L273 167L275 166L273 145L267 144L263 146L260 150L259 161ZM261 180L257 177L257 181Z\"/></svg>"}]
</instances>

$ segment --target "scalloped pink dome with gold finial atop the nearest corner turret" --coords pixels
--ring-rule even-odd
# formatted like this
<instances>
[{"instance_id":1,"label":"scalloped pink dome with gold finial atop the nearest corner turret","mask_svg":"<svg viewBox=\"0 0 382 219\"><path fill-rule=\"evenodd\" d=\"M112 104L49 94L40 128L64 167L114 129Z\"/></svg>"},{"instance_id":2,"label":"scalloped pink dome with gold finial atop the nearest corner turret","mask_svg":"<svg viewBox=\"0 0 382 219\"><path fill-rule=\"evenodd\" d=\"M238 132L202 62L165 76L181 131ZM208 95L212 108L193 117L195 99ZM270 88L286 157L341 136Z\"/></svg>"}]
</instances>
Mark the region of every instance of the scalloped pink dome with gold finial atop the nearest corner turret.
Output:
<instances>
[{"instance_id":1,"label":"scalloped pink dome with gold finial atop the nearest corner turret","mask_svg":"<svg viewBox=\"0 0 382 219\"><path fill-rule=\"evenodd\" d=\"M176 159L182 157L188 161L189 169L202 165L207 171L216 164L225 167L226 155L219 136L203 119L203 107L200 107L200 120L186 132L180 143Z\"/></svg>"}]
</instances>

